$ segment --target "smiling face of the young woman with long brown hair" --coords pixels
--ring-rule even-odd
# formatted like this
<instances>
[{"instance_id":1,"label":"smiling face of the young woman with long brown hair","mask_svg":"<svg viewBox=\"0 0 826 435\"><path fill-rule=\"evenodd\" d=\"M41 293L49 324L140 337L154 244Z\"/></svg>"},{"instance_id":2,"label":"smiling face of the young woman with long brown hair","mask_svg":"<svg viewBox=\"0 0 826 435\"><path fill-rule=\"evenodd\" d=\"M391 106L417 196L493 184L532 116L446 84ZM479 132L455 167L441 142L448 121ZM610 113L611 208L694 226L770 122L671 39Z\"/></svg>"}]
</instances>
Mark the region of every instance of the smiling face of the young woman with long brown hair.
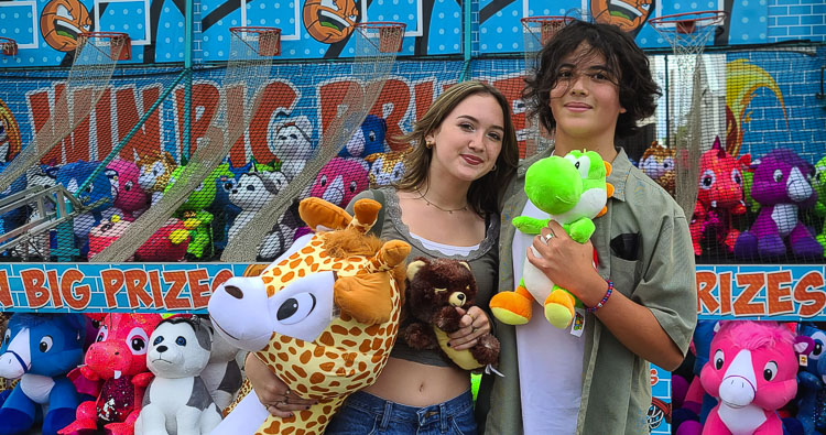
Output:
<instances>
[{"instance_id":1,"label":"smiling face of the young woman with long brown hair","mask_svg":"<svg viewBox=\"0 0 826 435\"><path fill-rule=\"evenodd\" d=\"M425 139L433 143L431 176L472 182L490 172L502 150L504 116L496 98L476 94L465 98Z\"/></svg>"}]
</instances>

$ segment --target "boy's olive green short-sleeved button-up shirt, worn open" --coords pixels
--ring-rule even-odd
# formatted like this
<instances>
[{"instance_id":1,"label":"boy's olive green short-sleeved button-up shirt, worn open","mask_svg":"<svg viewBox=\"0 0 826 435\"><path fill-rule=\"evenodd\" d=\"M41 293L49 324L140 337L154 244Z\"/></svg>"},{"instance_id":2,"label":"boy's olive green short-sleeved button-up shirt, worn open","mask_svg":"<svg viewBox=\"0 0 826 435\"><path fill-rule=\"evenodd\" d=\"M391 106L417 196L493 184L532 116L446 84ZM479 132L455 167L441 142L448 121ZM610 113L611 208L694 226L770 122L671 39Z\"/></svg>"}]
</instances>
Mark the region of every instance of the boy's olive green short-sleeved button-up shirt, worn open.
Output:
<instances>
[{"instance_id":1,"label":"boy's olive green short-sleeved button-up shirt, worn open","mask_svg":"<svg viewBox=\"0 0 826 435\"><path fill-rule=\"evenodd\" d=\"M515 229L511 220L522 213L528 202L525 171L531 163L551 155L552 151L523 162L504 196L499 291L514 289L511 244ZM597 251L597 271L613 282L615 291L651 309L685 355L697 323L694 251L685 214L665 191L631 165L623 150L619 150L612 166L608 182L613 185L615 193L608 199L608 213L594 221L596 231L591 243ZM619 235L639 235L635 254L612 251L611 240ZM645 418L651 405L649 362L628 350L597 317L587 316L583 396L576 433L649 433ZM480 429L483 428L486 434L521 434L515 328L499 322L496 326L501 341L499 371L504 377L486 376L482 379L477 418L483 423ZM520 350L522 355L530 352L530 349Z\"/></svg>"}]
</instances>

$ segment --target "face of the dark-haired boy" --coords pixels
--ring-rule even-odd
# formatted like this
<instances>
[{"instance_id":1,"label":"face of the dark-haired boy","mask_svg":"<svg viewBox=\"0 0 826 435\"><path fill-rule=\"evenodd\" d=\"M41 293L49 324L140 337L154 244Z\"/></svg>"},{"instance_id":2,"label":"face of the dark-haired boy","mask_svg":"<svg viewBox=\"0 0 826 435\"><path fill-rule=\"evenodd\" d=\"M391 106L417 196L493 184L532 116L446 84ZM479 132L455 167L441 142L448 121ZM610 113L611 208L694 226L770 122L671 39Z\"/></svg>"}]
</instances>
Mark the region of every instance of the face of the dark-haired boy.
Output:
<instances>
[{"instance_id":1,"label":"face of the dark-haired boy","mask_svg":"<svg viewBox=\"0 0 826 435\"><path fill-rule=\"evenodd\" d=\"M605 56L582 43L559 63L556 86L551 89L551 111L557 134L574 138L606 137L613 140L620 105L616 73Z\"/></svg>"}]
</instances>

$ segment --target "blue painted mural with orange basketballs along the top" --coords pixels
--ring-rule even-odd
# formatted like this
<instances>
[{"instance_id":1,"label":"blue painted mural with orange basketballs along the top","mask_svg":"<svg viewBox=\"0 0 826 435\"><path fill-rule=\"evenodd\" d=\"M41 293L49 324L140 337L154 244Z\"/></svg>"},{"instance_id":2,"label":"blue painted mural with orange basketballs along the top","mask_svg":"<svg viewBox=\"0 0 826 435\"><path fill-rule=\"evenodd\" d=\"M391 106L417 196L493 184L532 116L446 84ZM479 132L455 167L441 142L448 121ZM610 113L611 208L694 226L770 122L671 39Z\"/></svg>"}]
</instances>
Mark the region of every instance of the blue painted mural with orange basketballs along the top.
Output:
<instances>
[{"instance_id":1,"label":"blue painted mural with orange basketballs along the top","mask_svg":"<svg viewBox=\"0 0 826 435\"><path fill-rule=\"evenodd\" d=\"M553 3L553 6L551 6ZM480 0L471 50L520 53L520 19L533 15L593 17L633 34L642 47L664 47L649 20L672 13L724 10L726 24L716 45L768 42L765 0ZM463 53L464 12L459 0L204 0L194 14L195 62L226 61L230 28L281 29L281 58L351 57L354 25L367 21L405 24L402 56ZM0 36L17 41L18 56L0 57L0 67L69 66L77 35L124 32L134 55L129 63L184 61L185 2L182 0L12 0L0 2ZM477 17L474 14L474 17ZM478 42L476 42L478 40Z\"/></svg>"}]
</instances>

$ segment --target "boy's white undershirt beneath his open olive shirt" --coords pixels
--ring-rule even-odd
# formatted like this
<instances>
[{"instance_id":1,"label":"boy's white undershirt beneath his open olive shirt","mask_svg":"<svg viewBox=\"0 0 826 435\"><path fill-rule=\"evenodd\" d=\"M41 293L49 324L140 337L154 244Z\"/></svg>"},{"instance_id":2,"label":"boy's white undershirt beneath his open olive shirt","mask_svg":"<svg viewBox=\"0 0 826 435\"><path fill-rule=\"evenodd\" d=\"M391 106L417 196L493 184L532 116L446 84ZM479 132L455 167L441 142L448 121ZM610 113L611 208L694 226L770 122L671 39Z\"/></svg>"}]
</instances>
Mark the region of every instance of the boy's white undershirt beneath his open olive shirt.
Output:
<instances>
[{"instance_id":1,"label":"boy's white undershirt beneath his open olive shirt","mask_svg":"<svg viewBox=\"0 0 826 435\"><path fill-rule=\"evenodd\" d=\"M530 200L521 216L547 219L547 214ZM522 278L525 252L532 243L533 236L517 230L512 249L514 285ZM585 340L572 335L570 328L552 326L542 302L534 301L531 322L517 326L522 425L525 435L574 434L583 395Z\"/></svg>"}]
</instances>

